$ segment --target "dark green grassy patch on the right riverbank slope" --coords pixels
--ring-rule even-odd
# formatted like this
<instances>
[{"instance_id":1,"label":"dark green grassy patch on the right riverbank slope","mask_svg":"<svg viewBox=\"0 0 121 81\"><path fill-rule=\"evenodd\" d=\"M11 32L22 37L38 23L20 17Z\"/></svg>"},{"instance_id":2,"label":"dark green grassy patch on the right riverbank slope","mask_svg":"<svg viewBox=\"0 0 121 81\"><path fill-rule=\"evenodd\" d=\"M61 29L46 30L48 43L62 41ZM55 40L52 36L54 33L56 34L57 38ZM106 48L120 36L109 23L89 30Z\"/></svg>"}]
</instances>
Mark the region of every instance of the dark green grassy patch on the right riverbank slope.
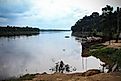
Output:
<instances>
[{"instance_id":1,"label":"dark green grassy patch on the right riverbank slope","mask_svg":"<svg viewBox=\"0 0 121 81\"><path fill-rule=\"evenodd\" d=\"M90 50L90 55L100 58L106 63L113 64L117 62L121 67L121 49L116 48L100 48L96 50Z\"/></svg>"}]
</instances>

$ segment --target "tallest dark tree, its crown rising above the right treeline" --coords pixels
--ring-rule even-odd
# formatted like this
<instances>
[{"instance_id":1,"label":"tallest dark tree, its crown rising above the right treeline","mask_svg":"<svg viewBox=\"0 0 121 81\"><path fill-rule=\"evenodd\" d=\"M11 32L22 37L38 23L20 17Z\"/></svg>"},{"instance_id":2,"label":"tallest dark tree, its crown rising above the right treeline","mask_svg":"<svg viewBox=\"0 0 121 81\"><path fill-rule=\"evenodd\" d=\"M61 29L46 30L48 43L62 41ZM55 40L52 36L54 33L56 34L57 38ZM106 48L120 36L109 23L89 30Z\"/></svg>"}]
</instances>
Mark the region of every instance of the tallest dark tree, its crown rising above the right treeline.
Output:
<instances>
[{"instance_id":1,"label":"tallest dark tree, its crown rising above the right treeline","mask_svg":"<svg viewBox=\"0 0 121 81\"><path fill-rule=\"evenodd\" d=\"M113 7L106 5L106 7L102 8L102 32L104 36L108 37L109 44L112 36L114 34L114 27L113 27Z\"/></svg>"}]
</instances>

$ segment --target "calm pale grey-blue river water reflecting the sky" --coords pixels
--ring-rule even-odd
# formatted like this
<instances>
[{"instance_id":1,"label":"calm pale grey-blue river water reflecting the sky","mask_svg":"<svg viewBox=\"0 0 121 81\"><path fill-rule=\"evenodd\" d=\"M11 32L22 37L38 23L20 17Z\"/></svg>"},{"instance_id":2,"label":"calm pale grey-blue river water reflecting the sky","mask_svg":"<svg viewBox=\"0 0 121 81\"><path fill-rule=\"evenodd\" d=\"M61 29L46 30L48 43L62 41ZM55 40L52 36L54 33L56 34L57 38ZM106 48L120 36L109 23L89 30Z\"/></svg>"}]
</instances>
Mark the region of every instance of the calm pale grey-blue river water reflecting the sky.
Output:
<instances>
[{"instance_id":1,"label":"calm pale grey-blue river water reflecting the sky","mask_svg":"<svg viewBox=\"0 0 121 81\"><path fill-rule=\"evenodd\" d=\"M70 31L40 32L39 35L28 37L1 37L0 79L26 73L52 73L49 69L61 60L76 67L76 72L100 69L99 59L81 57L81 52L81 43L71 37Z\"/></svg>"}]
</instances>

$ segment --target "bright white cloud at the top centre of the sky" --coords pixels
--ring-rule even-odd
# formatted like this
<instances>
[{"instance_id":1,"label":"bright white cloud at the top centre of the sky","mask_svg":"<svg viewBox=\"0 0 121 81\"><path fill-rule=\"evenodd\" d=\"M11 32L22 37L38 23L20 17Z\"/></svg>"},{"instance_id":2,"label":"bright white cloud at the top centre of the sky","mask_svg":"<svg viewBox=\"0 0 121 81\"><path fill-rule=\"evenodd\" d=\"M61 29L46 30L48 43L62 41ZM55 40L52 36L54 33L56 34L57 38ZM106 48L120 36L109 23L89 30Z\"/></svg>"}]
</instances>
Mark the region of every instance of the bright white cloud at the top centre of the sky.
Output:
<instances>
[{"instance_id":1,"label":"bright white cloud at the top centre of the sky","mask_svg":"<svg viewBox=\"0 0 121 81\"><path fill-rule=\"evenodd\" d=\"M43 20L54 20L61 19L72 13L75 13L75 10L83 11L76 1L71 0L34 0L33 9L31 12L34 12L36 16ZM79 1L79 0L77 0Z\"/></svg>"}]
</instances>

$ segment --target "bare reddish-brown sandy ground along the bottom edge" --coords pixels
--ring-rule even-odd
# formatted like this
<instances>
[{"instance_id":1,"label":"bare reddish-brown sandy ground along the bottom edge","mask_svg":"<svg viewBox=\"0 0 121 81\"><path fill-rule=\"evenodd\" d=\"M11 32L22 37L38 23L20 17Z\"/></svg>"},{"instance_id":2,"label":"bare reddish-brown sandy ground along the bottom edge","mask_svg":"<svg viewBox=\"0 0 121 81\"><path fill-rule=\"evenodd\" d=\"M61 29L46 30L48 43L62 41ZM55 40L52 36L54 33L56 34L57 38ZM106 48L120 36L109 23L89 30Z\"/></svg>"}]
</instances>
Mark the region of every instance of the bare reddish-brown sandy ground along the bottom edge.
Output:
<instances>
[{"instance_id":1,"label":"bare reddish-brown sandy ground along the bottom edge","mask_svg":"<svg viewBox=\"0 0 121 81\"><path fill-rule=\"evenodd\" d=\"M37 75L26 81L121 81L121 73L100 73L92 76L81 76L81 73Z\"/></svg>"}]
</instances>

